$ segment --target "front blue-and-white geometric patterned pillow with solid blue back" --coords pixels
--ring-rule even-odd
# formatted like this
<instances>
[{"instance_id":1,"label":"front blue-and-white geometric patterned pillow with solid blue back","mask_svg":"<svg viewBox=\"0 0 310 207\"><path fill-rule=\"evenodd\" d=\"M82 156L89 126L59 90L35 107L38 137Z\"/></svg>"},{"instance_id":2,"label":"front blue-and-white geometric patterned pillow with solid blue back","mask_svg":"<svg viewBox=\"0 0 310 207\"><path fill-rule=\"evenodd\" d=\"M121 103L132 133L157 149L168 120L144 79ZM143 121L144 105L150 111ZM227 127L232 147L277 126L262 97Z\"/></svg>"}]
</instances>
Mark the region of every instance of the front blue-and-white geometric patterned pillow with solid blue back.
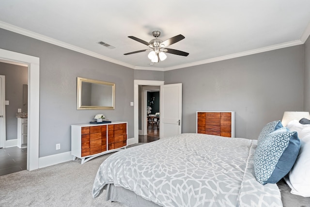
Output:
<instances>
[{"instance_id":1,"label":"front blue-and-white geometric patterned pillow with solid blue back","mask_svg":"<svg viewBox=\"0 0 310 207\"><path fill-rule=\"evenodd\" d=\"M268 134L258 143L254 155L254 171L259 183L277 183L290 172L300 149L296 131L286 127Z\"/></svg>"}]
</instances>

